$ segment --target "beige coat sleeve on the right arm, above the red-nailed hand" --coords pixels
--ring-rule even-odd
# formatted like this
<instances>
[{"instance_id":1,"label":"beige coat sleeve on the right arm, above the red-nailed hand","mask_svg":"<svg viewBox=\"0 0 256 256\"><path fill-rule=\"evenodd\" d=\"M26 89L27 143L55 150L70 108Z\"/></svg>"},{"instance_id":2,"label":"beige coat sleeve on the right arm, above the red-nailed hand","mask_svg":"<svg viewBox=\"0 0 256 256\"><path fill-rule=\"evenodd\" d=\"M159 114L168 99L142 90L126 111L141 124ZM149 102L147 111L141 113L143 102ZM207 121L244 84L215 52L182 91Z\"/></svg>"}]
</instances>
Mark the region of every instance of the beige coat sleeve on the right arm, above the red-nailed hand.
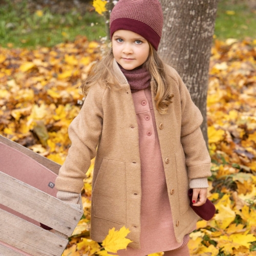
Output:
<instances>
[{"instance_id":1,"label":"beige coat sleeve on the right arm, above the red-nailed hand","mask_svg":"<svg viewBox=\"0 0 256 256\"><path fill-rule=\"evenodd\" d=\"M203 116L177 72L176 78L181 100L181 144L185 153L188 178L209 177L211 160L200 129Z\"/></svg>"}]
</instances>

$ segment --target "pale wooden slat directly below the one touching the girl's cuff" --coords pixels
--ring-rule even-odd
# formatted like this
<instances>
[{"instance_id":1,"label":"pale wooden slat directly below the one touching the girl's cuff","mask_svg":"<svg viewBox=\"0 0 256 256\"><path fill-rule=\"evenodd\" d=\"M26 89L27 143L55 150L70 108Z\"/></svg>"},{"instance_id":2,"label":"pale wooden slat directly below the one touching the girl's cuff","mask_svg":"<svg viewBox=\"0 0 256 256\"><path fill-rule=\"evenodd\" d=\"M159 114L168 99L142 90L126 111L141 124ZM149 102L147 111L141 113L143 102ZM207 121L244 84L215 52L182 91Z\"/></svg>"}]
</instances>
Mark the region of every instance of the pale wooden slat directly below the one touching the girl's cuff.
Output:
<instances>
[{"instance_id":1,"label":"pale wooden slat directly below the one touching the girl's cuff","mask_svg":"<svg viewBox=\"0 0 256 256\"><path fill-rule=\"evenodd\" d=\"M0 209L0 239L33 256L59 256L68 240Z\"/></svg>"}]
</instances>

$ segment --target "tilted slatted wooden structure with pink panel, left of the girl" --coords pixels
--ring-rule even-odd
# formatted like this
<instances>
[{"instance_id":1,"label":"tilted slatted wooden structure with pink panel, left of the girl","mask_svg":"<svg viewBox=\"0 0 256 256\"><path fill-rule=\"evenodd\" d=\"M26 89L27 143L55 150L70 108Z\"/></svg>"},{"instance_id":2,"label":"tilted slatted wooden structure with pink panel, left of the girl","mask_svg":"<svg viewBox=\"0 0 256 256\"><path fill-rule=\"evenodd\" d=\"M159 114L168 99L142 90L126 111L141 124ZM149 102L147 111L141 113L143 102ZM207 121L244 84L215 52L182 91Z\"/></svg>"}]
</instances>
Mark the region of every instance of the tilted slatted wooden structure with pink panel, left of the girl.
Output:
<instances>
[{"instance_id":1,"label":"tilted slatted wooden structure with pink panel, left of the girl","mask_svg":"<svg viewBox=\"0 0 256 256\"><path fill-rule=\"evenodd\" d=\"M0 255L60 256L83 211L56 198L60 165L0 136Z\"/></svg>"}]
</instances>

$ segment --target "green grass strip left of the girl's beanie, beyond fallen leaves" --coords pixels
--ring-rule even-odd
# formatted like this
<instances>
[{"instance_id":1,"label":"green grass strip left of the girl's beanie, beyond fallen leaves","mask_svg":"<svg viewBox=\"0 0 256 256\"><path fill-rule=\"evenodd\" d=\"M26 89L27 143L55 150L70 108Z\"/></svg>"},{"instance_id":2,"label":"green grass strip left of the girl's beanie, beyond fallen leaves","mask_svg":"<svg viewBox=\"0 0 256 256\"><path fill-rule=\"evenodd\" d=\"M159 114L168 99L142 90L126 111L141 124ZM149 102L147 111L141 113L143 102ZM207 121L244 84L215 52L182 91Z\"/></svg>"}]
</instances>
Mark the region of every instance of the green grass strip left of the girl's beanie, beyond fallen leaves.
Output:
<instances>
[{"instance_id":1,"label":"green grass strip left of the girl's beanie, beyond fallen leaves","mask_svg":"<svg viewBox=\"0 0 256 256\"><path fill-rule=\"evenodd\" d=\"M27 47L54 46L72 41L77 35L89 40L105 36L103 17L96 12L81 15L73 9L65 15L53 14L49 9L30 13L26 1L13 6L11 0L0 5L0 46Z\"/></svg>"}]
</instances>

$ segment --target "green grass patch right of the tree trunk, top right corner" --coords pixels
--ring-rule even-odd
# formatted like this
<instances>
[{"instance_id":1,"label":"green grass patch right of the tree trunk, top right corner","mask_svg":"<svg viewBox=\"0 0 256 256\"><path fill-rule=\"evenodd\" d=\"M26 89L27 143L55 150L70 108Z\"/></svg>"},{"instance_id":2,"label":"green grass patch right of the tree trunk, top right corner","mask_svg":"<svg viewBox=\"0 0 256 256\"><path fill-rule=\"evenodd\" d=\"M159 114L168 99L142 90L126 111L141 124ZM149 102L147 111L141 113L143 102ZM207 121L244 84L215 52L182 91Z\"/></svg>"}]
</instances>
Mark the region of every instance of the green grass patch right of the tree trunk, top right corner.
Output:
<instances>
[{"instance_id":1,"label":"green grass patch right of the tree trunk, top right corner","mask_svg":"<svg viewBox=\"0 0 256 256\"><path fill-rule=\"evenodd\" d=\"M217 38L256 38L255 28L256 9L246 5L246 1L219 1L215 25Z\"/></svg>"}]
</instances>

